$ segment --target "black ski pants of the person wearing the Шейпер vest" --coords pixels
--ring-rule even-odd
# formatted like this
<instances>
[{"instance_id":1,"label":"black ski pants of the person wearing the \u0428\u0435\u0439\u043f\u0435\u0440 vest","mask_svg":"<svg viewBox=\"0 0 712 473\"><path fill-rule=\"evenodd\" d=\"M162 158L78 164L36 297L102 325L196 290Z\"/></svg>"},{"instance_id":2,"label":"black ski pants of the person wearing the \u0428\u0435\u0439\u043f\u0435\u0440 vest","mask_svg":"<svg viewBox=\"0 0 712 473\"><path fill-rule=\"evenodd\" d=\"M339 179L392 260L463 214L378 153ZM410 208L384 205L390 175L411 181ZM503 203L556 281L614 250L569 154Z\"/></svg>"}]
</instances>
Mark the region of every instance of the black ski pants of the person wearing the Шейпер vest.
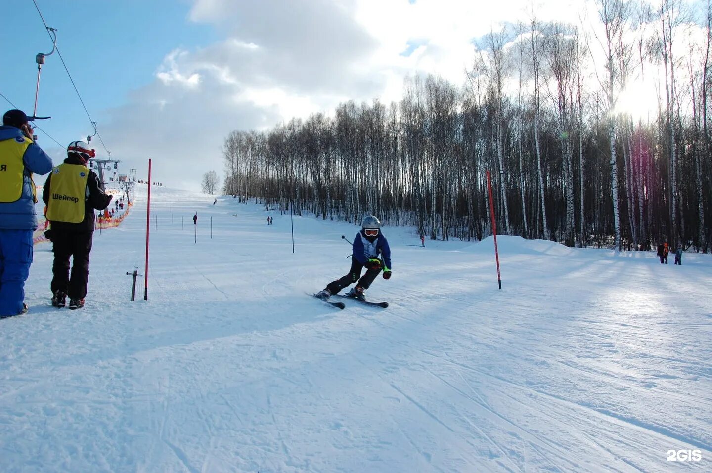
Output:
<instances>
[{"instance_id":1,"label":"black ski pants of the person wearing the \u0428\u0435\u0439\u043f\u0435\u0440 vest","mask_svg":"<svg viewBox=\"0 0 712 473\"><path fill-rule=\"evenodd\" d=\"M58 290L70 299L84 299L89 280L89 253L93 232L73 233L56 230L52 235L54 264L52 265L52 294ZM73 257L71 277L69 258Z\"/></svg>"}]
</instances>

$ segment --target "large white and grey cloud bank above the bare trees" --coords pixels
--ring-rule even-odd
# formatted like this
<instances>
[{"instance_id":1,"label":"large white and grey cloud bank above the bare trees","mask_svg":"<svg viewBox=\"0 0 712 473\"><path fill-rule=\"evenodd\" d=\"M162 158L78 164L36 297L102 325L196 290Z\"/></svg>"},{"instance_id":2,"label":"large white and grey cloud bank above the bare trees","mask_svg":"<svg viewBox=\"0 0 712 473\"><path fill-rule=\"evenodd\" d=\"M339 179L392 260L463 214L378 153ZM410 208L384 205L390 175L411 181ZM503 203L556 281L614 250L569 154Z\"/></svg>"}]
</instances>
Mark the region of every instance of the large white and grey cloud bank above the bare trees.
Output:
<instances>
[{"instance_id":1,"label":"large white and grey cloud bank above the bare trees","mask_svg":"<svg viewBox=\"0 0 712 473\"><path fill-rule=\"evenodd\" d=\"M583 3L549 0L534 7L541 20L578 22ZM137 156L131 159L155 156L166 173L157 180L189 176L197 188L204 172L222 170L222 142L233 129L264 129L294 116L330 113L344 100L399 100L404 78L416 73L462 83L473 40L504 21L525 20L530 5L194 0L189 20L213 26L223 39L169 53L155 81L112 110L108 141L122 143L122 152Z\"/></svg>"}]
</instances>

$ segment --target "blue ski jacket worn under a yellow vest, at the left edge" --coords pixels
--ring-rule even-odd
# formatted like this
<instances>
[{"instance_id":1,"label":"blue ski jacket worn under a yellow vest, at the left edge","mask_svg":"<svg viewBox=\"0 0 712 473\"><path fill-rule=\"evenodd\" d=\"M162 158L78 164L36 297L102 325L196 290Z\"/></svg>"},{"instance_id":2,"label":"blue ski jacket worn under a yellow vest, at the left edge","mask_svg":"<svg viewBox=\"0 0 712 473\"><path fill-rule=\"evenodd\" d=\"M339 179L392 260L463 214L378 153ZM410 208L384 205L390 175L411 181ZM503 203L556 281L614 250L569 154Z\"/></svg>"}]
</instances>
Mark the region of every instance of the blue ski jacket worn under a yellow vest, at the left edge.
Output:
<instances>
[{"instance_id":1,"label":"blue ski jacket worn under a yellow vest, at the left edge","mask_svg":"<svg viewBox=\"0 0 712 473\"><path fill-rule=\"evenodd\" d=\"M22 130L9 125L0 127L0 142L7 139L26 139ZM32 194L31 174L47 174L52 170L52 159L37 144L30 144L22 156L22 193L14 202L0 202L0 230L35 230L35 200Z\"/></svg>"}]
</instances>

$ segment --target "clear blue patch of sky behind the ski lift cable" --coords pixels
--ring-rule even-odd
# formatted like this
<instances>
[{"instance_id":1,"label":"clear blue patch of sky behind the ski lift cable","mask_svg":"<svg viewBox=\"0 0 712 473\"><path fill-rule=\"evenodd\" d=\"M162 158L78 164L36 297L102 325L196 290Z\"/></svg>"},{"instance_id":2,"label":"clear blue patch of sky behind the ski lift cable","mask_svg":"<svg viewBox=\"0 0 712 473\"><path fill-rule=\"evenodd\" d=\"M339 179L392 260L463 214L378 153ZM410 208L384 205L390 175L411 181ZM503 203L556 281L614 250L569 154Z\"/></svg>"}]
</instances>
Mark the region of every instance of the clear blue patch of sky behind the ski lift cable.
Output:
<instances>
[{"instance_id":1,"label":"clear blue patch of sky behind the ski lift cable","mask_svg":"<svg viewBox=\"0 0 712 473\"><path fill-rule=\"evenodd\" d=\"M151 83L167 53L216 40L213 28L187 20L187 2L37 0L37 4L47 25L58 30L59 51L100 133L106 110L120 106L130 90ZM37 80L35 55L52 49L31 0L4 9L0 41L13 45L4 48L4 61L12 73L0 76L0 92L29 115ZM2 102L3 107L11 107ZM62 144L93 133L57 53L48 56L42 68L37 115L53 117L40 122L41 127ZM43 146L57 146L42 133L38 136ZM111 143L106 145L111 151Z\"/></svg>"}]
</instances>

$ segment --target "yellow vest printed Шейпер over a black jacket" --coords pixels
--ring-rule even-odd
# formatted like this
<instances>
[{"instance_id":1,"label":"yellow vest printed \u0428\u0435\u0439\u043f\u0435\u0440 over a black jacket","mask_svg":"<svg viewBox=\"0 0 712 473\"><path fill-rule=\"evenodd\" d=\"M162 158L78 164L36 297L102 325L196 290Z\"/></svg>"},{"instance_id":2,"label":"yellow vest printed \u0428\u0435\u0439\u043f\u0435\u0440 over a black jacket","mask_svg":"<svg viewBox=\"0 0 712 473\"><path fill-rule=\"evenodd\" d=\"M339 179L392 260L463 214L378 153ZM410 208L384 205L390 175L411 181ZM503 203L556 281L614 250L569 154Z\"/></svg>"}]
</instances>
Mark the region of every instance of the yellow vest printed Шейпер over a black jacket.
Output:
<instances>
[{"instance_id":1,"label":"yellow vest printed \u0428\u0435\u0439\u043f\u0435\u0440 over a black jacket","mask_svg":"<svg viewBox=\"0 0 712 473\"><path fill-rule=\"evenodd\" d=\"M60 164L52 170L47 220L82 223L85 216L89 169L81 164Z\"/></svg>"}]
</instances>

